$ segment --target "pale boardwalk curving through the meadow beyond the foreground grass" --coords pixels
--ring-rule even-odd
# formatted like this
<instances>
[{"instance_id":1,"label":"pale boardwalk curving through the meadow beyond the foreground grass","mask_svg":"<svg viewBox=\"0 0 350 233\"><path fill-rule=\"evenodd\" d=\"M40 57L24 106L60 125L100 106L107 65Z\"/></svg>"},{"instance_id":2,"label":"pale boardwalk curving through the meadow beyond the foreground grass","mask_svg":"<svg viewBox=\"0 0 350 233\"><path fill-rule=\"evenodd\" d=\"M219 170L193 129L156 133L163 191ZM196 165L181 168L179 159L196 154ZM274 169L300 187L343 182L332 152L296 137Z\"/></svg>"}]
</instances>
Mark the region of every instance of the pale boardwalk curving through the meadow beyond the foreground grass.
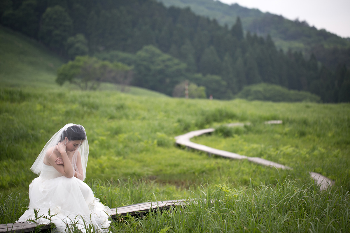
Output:
<instances>
[{"instance_id":1,"label":"pale boardwalk curving through the meadow beyond the foreground grass","mask_svg":"<svg viewBox=\"0 0 350 233\"><path fill-rule=\"evenodd\" d=\"M249 124L249 123L248 123ZM282 124L282 121L280 120L276 120L276 121L267 121L265 122L265 124ZM244 126L244 123L231 123L228 124L228 126L230 127L234 127L234 126ZM215 155L219 155L225 158L230 158L230 159L247 159L251 162L254 163L258 163L264 166L273 166L276 168L281 168L281 169L287 169L287 170L292 170L293 168L287 167L285 165L276 163L276 162L272 162L266 159L261 159L258 157L248 157L245 155L240 155L240 154L236 154L236 153L232 153L232 152L228 152L228 151L223 151L223 150L218 150L209 146L205 146L205 145L201 145L201 144L197 144L197 143L193 143L190 141L191 138L196 137L196 136L200 136L202 134L205 133L211 133L214 132L215 129L210 128L210 129L203 129L203 130L196 130L196 131L191 131L182 135L179 135L177 137L175 137L176 139L176 144L177 145L182 145L182 146L186 146L187 148L191 148L194 150L198 150L198 151L203 151L208 153L209 155L211 154L215 154ZM319 173L315 173L315 172L309 172L310 177L318 184L320 185L320 189L321 190L325 190L327 189L329 186L334 185L334 181L332 181L331 179L319 174Z\"/></svg>"}]
</instances>

